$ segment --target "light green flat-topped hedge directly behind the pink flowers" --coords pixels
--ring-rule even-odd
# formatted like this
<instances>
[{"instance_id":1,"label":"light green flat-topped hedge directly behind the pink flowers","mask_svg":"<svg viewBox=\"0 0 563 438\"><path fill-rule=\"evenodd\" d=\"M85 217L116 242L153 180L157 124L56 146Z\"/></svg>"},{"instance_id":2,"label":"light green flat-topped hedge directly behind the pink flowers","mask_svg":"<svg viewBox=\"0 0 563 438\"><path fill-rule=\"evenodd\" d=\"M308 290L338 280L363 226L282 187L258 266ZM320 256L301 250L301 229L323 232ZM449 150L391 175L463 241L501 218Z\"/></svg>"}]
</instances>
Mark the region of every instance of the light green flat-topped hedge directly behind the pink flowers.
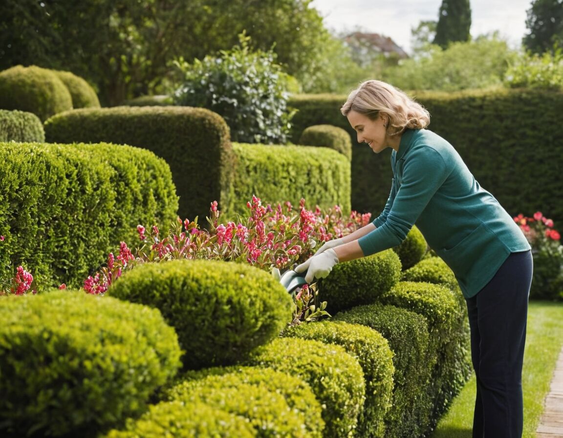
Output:
<instances>
[{"instance_id":1,"label":"light green flat-topped hedge directly behind the pink flowers","mask_svg":"<svg viewBox=\"0 0 563 438\"><path fill-rule=\"evenodd\" d=\"M247 214L252 195L263 204L299 205L350 211L350 163L328 148L234 143L236 167L227 211Z\"/></svg>"}]
</instances>

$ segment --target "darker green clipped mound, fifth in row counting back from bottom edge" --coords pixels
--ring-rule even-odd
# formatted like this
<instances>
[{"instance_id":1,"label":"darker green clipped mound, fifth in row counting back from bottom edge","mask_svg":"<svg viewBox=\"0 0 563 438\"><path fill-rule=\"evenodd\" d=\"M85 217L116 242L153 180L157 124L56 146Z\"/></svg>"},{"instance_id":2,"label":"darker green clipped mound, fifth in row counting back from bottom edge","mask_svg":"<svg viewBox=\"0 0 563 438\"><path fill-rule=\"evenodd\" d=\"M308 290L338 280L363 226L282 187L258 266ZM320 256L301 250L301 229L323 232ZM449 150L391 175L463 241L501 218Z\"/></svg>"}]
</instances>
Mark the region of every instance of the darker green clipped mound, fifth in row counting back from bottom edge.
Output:
<instances>
[{"instance_id":1,"label":"darker green clipped mound, fifth in row counting back from bottom edge","mask_svg":"<svg viewBox=\"0 0 563 438\"><path fill-rule=\"evenodd\" d=\"M422 436L430 422L432 400L426 389L436 352L429 347L428 322L413 311L375 303L338 312L333 321L361 324L387 339L393 355L392 408L385 415L386 438Z\"/></svg>"}]
</instances>

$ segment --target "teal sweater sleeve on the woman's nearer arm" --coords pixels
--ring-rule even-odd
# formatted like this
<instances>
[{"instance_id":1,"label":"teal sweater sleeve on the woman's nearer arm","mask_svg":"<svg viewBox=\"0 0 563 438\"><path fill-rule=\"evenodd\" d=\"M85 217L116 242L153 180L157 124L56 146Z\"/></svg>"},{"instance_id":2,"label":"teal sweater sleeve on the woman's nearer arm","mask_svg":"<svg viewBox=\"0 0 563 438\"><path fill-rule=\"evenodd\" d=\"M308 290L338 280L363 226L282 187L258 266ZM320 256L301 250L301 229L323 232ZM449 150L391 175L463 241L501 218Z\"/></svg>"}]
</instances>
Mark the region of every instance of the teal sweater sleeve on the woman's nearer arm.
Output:
<instances>
[{"instance_id":1,"label":"teal sweater sleeve on the woman's nearer arm","mask_svg":"<svg viewBox=\"0 0 563 438\"><path fill-rule=\"evenodd\" d=\"M403 182L399 185L386 216L379 216L371 233L358 239L364 256L399 245L405 239L432 196L448 177L444 159L431 146L417 148L405 159ZM396 182L394 186L396 185ZM392 194L392 193L391 193ZM385 213L385 211L384 211ZM379 219L385 221L379 222ZM381 223L377 225L376 222Z\"/></svg>"}]
</instances>

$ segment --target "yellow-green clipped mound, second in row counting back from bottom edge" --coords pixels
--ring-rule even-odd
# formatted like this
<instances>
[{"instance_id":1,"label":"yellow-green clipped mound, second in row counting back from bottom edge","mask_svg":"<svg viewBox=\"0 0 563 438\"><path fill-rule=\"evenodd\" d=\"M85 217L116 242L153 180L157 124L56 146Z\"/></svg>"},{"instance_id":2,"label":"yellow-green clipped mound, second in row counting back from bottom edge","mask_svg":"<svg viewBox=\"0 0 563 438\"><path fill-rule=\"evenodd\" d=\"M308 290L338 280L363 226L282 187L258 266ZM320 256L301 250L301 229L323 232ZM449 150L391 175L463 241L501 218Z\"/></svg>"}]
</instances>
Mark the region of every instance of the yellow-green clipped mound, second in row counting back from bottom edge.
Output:
<instances>
[{"instance_id":1,"label":"yellow-green clipped mound, second in row counting back from bottom edge","mask_svg":"<svg viewBox=\"0 0 563 438\"><path fill-rule=\"evenodd\" d=\"M292 374L258 367L211 368L188 373L188 379L167 391L167 398L248 418L260 437L321 438L321 405L311 387Z\"/></svg>"}]
</instances>

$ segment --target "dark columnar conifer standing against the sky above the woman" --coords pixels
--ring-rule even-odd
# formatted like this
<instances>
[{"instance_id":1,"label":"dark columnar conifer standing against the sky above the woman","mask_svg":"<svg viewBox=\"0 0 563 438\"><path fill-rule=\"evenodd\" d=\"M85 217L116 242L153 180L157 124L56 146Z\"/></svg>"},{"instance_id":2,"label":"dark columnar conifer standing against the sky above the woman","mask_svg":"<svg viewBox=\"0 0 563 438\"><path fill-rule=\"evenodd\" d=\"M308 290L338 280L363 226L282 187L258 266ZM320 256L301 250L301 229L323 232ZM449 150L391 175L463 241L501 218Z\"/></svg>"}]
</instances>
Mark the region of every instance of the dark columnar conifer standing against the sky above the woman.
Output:
<instances>
[{"instance_id":1,"label":"dark columnar conifer standing against the sky above the woman","mask_svg":"<svg viewBox=\"0 0 563 438\"><path fill-rule=\"evenodd\" d=\"M470 41L471 6L469 0L442 0L434 44L442 48L453 42Z\"/></svg>"}]
</instances>

